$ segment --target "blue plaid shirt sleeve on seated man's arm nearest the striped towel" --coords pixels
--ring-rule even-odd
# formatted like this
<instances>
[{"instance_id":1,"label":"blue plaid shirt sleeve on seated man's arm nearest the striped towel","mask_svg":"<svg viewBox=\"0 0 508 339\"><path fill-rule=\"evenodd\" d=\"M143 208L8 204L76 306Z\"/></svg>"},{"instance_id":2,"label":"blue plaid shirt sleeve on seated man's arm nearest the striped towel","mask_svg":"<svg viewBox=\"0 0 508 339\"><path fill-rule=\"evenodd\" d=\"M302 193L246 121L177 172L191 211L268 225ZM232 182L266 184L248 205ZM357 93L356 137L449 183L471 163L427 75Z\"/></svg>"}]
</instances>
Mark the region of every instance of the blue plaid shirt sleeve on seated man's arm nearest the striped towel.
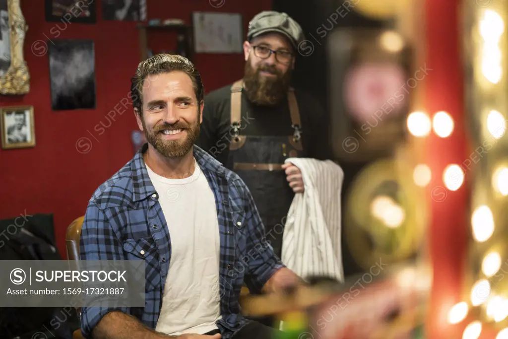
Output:
<instances>
[{"instance_id":1,"label":"blue plaid shirt sleeve on seated man's arm nearest the striped towel","mask_svg":"<svg viewBox=\"0 0 508 339\"><path fill-rule=\"evenodd\" d=\"M241 190L245 201L245 221L248 230L249 258L245 283L249 290L261 291L272 275L285 265L275 255L272 246L266 240L265 226L261 221L258 208L243 181L241 181Z\"/></svg>"}]
</instances>

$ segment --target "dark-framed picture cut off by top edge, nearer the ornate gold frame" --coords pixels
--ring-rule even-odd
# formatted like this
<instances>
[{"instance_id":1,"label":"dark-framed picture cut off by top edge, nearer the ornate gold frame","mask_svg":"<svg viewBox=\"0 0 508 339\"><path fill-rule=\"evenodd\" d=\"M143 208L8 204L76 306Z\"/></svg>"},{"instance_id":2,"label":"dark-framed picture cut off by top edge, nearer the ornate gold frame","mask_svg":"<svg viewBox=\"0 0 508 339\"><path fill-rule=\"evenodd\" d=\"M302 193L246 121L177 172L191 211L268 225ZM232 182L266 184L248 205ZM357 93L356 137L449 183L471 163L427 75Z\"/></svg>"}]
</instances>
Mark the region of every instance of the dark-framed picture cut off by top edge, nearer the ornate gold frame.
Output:
<instances>
[{"instance_id":1,"label":"dark-framed picture cut off by top edge, nearer the ornate gold frame","mask_svg":"<svg viewBox=\"0 0 508 339\"><path fill-rule=\"evenodd\" d=\"M94 0L45 0L46 21L64 23L96 23L97 1Z\"/></svg>"}]
</instances>

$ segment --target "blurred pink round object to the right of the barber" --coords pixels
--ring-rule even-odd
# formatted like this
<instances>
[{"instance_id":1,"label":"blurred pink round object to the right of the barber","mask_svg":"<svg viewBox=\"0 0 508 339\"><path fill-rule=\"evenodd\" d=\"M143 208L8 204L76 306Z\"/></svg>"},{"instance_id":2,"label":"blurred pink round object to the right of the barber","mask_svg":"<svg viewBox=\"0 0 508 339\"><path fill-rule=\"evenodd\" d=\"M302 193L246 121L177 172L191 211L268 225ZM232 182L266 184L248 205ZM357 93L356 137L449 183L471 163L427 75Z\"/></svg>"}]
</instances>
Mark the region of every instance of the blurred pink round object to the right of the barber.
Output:
<instances>
[{"instance_id":1,"label":"blurred pink round object to the right of the barber","mask_svg":"<svg viewBox=\"0 0 508 339\"><path fill-rule=\"evenodd\" d=\"M406 76L395 63L362 63L347 72L344 99L353 118L371 127L397 116L407 101Z\"/></svg>"}]
</instances>

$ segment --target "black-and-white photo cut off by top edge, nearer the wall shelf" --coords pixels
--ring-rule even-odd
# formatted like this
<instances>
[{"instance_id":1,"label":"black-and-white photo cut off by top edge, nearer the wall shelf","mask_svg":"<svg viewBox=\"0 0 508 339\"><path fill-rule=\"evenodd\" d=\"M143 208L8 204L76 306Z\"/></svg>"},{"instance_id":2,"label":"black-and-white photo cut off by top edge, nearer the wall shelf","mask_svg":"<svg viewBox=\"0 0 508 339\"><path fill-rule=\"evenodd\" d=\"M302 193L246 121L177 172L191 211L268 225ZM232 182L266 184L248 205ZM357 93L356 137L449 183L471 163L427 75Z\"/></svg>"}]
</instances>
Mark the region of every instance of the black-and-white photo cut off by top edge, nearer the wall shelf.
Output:
<instances>
[{"instance_id":1,"label":"black-and-white photo cut off by top edge, nearer the wall shelf","mask_svg":"<svg viewBox=\"0 0 508 339\"><path fill-rule=\"evenodd\" d=\"M103 0L104 20L144 21L146 19L146 0Z\"/></svg>"}]
</instances>

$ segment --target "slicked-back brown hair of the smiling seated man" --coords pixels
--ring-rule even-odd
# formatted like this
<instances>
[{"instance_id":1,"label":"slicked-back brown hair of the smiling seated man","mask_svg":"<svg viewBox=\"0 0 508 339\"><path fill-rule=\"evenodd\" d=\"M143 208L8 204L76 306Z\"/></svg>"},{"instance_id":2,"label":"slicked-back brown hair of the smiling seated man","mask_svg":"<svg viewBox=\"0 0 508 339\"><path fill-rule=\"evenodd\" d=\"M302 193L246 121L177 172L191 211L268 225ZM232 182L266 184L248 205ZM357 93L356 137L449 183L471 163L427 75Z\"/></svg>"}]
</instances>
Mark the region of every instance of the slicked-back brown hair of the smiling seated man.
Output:
<instances>
[{"instance_id":1,"label":"slicked-back brown hair of the smiling seated man","mask_svg":"<svg viewBox=\"0 0 508 339\"><path fill-rule=\"evenodd\" d=\"M198 100L198 114L200 114L199 105L203 102L205 89L201 81L201 75L193 63L181 55L155 54L145 61L141 61L136 74L131 78L132 105L138 109L140 115L143 115L143 88L150 85L149 83L145 84L145 79L150 75L159 75L173 71L184 72L192 80L194 93Z\"/></svg>"}]
</instances>

